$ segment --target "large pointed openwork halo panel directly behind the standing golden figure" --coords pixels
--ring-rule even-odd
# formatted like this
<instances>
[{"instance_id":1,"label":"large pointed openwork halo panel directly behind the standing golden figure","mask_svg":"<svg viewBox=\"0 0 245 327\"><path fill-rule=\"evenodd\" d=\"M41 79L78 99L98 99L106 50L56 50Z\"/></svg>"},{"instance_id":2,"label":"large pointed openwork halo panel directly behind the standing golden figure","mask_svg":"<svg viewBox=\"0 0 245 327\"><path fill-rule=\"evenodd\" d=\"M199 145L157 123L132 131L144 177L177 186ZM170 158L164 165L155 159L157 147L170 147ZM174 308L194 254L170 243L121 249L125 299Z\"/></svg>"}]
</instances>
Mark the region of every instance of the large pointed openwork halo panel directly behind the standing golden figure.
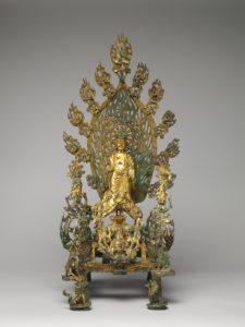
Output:
<instances>
[{"instance_id":1,"label":"large pointed openwork halo panel directly behind the standing golden figure","mask_svg":"<svg viewBox=\"0 0 245 327\"><path fill-rule=\"evenodd\" d=\"M100 180L98 193L107 190L106 167L117 138L125 138L127 152L132 155L136 170L134 198L142 202L146 197L154 172L154 157L157 154L155 122L146 114L140 102L135 102L128 88L120 86L117 95L105 106L101 114L91 121L93 133L88 141L91 154L91 170Z\"/></svg>"}]
</instances>

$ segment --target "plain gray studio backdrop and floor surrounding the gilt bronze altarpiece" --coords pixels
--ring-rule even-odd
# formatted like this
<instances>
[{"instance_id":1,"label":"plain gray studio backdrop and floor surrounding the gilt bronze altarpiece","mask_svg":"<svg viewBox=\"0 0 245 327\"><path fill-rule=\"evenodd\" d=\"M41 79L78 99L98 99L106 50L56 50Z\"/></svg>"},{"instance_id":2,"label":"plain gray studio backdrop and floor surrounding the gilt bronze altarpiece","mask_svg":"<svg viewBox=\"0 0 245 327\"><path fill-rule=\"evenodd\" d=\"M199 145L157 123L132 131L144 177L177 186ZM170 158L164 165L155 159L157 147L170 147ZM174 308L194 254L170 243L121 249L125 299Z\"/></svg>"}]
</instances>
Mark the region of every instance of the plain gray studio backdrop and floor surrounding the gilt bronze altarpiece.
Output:
<instances>
[{"instance_id":1,"label":"plain gray studio backdrop and floor surrounding the gilt bronze altarpiece","mask_svg":"<svg viewBox=\"0 0 245 327\"><path fill-rule=\"evenodd\" d=\"M62 131L77 136L66 119L69 105L74 101L86 112L78 97L82 78L96 86L98 61L111 71L110 46L122 32L133 46L132 75L138 61L150 70L143 100L160 78L166 95L157 120L167 109L177 118L159 143L163 148L181 138L171 190L177 275L167 280L167 312L145 310L144 276L98 275L94 311L78 314L68 310L61 294L68 253L59 225L71 160ZM135 325L154 319L170 326L244 326L244 86L245 1L0 1L4 326L125 326L130 318ZM94 204L97 194L85 189ZM145 217L154 205L142 205Z\"/></svg>"}]
</instances>

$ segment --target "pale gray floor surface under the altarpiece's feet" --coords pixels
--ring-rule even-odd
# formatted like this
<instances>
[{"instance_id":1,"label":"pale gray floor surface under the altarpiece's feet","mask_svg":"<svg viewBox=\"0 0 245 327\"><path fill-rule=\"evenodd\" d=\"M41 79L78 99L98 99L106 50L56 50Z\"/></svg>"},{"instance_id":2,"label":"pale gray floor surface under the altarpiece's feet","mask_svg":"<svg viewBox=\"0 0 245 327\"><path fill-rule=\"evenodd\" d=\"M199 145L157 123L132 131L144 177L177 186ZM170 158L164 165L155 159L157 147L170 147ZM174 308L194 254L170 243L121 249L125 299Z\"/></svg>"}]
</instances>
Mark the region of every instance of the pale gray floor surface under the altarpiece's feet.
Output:
<instances>
[{"instance_id":1,"label":"pale gray floor surface under the altarpiece's feet","mask_svg":"<svg viewBox=\"0 0 245 327\"><path fill-rule=\"evenodd\" d=\"M167 311L148 311L145 276L95 274L93 310L72 312L60 276L2 276L0 326L245 326L242 272L167 277Z\"/></svg>"}]
</instances>

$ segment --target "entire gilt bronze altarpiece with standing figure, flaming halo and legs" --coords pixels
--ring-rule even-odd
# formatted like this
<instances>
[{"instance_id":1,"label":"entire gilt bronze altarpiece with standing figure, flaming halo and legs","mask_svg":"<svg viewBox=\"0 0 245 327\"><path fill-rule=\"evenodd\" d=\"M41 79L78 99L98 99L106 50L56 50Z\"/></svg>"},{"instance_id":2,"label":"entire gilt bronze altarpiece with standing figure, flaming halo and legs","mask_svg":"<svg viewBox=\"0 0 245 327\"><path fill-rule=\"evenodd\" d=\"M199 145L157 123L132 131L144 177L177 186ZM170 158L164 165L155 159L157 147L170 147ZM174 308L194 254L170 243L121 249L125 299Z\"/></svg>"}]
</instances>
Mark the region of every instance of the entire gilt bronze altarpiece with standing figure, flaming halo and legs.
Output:
<instances>
[{"instance_id":1,"label":"entire gilt bronze altarpiece with standing figure, flaming halo and legs","mask_svg":"<svg viewBox=\"0 0 245 327\"><path fill-rule=\"evenodd\" d=\"M147 104L140 101L149 74L144 63L138 63L131 86L126 84L132 59L127 37L119 35L110 57L119 77L118 86L112 85L101 63L95 72L106 100L101 105L96 101L96 90L87 80L79 89L91 114L90 123L85 122L84 113L75 105L69 108L69 120L79 135L87 138L87 147L63 134L65 148L74 158L69 167L72 187L65 197L60 227L62 244L70 252L62 278L75 282L73 294L63 293L72 310L88 310L93 271L146 271L147 306L161 310L167 307L161 277L174 275L168 253L174 238L168 189L175 179L169 160L179 154L179 140L174 138L158 153L157 138L164 137L175 123L175 116L168 110L159 124L155 122L158 102L164 93L159 80L149 88ZM86 180L99 195L94 205L83 190L83 162L90 164L91 174ZM155 168L158 180L151 184ZM144 219L137 203L145 201L147 195L155 197L157 205Z\"/></svg>"}]
</instances>

